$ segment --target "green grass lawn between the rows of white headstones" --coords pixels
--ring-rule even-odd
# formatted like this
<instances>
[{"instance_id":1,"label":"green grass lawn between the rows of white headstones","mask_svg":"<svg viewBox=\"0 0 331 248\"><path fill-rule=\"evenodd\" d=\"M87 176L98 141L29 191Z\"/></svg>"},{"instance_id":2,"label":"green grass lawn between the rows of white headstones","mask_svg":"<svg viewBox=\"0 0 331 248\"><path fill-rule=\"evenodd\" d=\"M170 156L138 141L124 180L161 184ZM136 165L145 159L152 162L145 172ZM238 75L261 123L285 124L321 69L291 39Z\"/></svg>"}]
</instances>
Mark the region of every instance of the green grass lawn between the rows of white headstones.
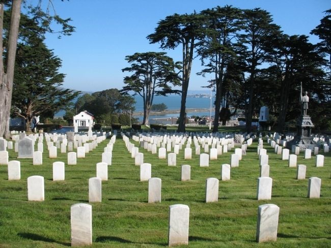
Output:
<instances>
[{"instance_id":1,"label":"green grass lawn between the rows of white headstones","mask_svg":"<svg viewBox=\"0 0 331 248\"><path fill-rule=\"evenodd\" d=\"M161 203L149 204L148 182L139 180L140 167L134 166L134 159L118 138L113 164L108 166L108 181L102 181L102 203L91 203L93 246L167 246L169 206L186 204L190 208L189 247L330 247L331 153L325 155L324 167L319 168L314 166L315 156L310 160L303 159L302 152L298 156L297 164L307 165L307 178L322 179L320 199L308 199L308 179L296 180L296 168L289 168L288 161L282 161L264 141L273 178L272 198L257 201L260 167L256 141L239 167L231 169L231 180L219 181L217 203L204 202L205 180L220 179L220 166L230 163L233 150L210 161L209 167L200 168L194 152L192 160L184 160L184 150L180 150L177 166L168 167L168 160L159 160L157 154L139 148L144 162L152 164L152 177L162 179ZM0 247L70 246L70 207L88 203L88 179L96 176L96 163L101 162L108 142L99 144L85 159L77 159L77 165L66 165L65 181L52 181L52 163L67 164L66 154L58 149L58 158L49 159L46 145L42 166L33 166L32 159L20 160L21 180L8 181L7 166L0 166ZM17 160L13 150L9 150L9 157ZM180 181L183 164L191 166L190 181ZM32 175L44 176L44 202L27 201L26 178ZM280 207L278 240L258 244L257 209L265 203Z\"/></svg>"}]
</instances>

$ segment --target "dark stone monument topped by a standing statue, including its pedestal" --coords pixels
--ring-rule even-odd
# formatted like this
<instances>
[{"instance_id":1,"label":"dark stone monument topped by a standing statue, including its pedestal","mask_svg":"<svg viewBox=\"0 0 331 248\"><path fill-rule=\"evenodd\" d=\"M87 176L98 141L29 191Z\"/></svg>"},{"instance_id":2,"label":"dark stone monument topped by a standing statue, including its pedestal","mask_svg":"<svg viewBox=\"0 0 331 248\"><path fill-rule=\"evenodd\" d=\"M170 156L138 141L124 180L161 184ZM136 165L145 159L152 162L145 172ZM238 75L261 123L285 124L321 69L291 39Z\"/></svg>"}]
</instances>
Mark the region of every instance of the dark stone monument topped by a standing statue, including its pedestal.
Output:
<instances>
[{"instance_id":1,"label":"dark stone monument topped by a standing statue, including its pedestal","mask_svg":"<svg viewBox=\"0 0 331 248\"><path fill-rule=\"evenodd\" d=\"M300 103L301 103L301 115L296 122L297 133L293 140L287 142L286 146L291 148L292 145L300 147L300 150L305 150L309 146L317 146L317 143L313 140L312 129L314 124L307 114L309 97L308 92L302 96L302 82L300 87Z\"/></svg>"}]
</instances>

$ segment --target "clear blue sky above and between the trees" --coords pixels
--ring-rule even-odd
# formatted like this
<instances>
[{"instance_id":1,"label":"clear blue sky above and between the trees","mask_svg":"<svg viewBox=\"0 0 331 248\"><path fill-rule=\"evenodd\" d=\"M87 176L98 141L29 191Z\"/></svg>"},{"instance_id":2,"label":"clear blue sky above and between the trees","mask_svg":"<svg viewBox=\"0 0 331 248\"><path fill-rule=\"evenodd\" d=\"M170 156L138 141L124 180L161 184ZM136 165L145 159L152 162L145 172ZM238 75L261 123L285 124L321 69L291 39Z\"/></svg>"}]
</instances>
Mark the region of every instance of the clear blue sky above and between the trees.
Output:
<instances>
[{"instance_id":1,"label":"clear blue sky above and between the trees","mask_svg":"<svg viewBox=\"0 0 331 248\"><path fill-rule=\"evenodd\" d=\"M43 0L48 2L48 0ZM37 0L27 0L35 4ZM47 35L48 48L62 59L61 72L66 74L66 88L100 91L123 87L121 69L129 64L126 55L135 52L162 51L158 44L149 44L146 36L154 32L157 22L174 13L200 12L217 5L232 5L241 9L261 8L271 13L276 24L288 35L311 36L323 11L330 9L329 0L53 0L62 18L70 17L76 32L57 39ZM317 43L318 38L311 36ZM181 61L181 47L165 50L175 61ZM200 60L194 60L190 90L200 90L207 80L197 76Z\"/></svg>"}]
</instances>

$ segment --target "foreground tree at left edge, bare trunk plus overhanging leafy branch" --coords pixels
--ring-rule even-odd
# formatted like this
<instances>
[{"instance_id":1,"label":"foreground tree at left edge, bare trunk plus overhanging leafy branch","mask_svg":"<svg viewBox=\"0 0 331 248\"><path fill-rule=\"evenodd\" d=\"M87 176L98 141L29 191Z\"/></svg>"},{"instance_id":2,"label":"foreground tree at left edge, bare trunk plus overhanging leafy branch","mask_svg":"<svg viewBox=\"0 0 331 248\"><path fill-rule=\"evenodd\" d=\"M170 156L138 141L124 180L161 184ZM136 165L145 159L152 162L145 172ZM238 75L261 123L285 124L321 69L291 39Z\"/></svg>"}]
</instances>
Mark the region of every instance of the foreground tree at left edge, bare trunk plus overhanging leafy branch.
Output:
<instances>
[{"instance_id":1,"label":"foreground tree at left edge, bare trunk plus overhanging leafy branch","mask_svg":"<svg viewBox=\"0 0 331 248\"><path fill-rule=\"evenodd\" d=\"M18 31L20 26L21 0L0 2L0 137L9 138L9 118L12 104L14 66L17 47ZM5 19L5 6L11 9L10 21ZM51 15L49 10L43 12L38 5L30 8L30 14L40 27L39 35L46 32L61 35L70 35L74 32L74 27L69 25L70 18L62 19L58 15ZM51 23L58 23L62 26L60 32L50 28ZM6 25L6 23L10 23Z\"/></svg>"}]
</instances>

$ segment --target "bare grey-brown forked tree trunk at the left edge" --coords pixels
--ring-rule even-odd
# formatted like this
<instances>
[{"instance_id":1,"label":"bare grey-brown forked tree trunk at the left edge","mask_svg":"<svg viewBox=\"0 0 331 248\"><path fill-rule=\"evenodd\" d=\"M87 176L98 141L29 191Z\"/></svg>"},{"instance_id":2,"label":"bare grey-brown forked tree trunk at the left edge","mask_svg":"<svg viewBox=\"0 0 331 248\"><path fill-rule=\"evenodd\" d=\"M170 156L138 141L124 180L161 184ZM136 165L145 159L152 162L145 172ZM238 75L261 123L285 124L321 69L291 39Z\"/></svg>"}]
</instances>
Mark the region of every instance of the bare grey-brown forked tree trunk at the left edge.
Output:
<instances>
[{"instance_id":1,"label":"bare grey-brown forked tree trunk at the left edge","mask_svg":"<svg viewBox=\"0 0 331 248\"><path fill-rule=\"evenodd\" d=\"M0 137L9 138L10 108L12 103L14 66L17 47L21 0L13 0L8 37L7 73L3 62L3 38L0 38ZM3 34L4 4L0 4L0 32Z\"/></svg>"}]
</instances>

